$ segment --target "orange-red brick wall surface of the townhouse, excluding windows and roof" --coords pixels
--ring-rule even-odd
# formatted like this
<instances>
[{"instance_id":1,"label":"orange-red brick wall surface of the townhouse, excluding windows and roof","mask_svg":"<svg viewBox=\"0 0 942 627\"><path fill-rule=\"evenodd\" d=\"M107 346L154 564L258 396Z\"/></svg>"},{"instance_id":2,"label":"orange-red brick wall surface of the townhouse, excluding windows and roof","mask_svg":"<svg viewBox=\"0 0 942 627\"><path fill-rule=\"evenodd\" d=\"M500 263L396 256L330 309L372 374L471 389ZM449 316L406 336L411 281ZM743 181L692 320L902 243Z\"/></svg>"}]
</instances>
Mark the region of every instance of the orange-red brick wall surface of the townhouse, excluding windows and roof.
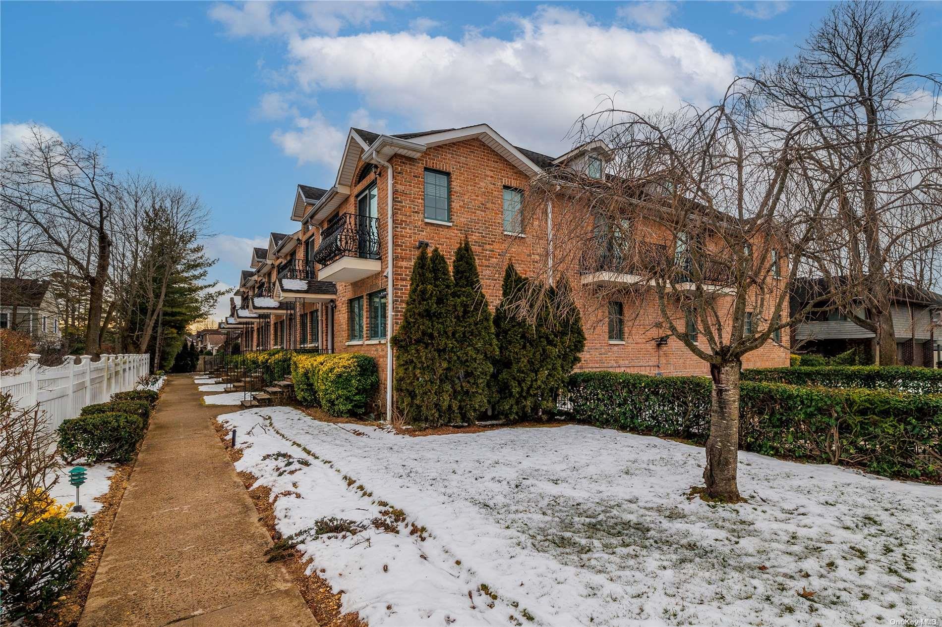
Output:
<instances>
[{"instance_id":1,"label":"orange-red brick wall surface of the townhouse, excluding windows and roof","mask_svg":"<svg viewBox=\"0 0 942 627\"><path fill-rule=\"evenodd\" d=\"M362 165L362 164L361 164ZM438 247L445 254L450 265L454 250L467 236L478 261L484 294L494 309L500 299L501 281L504 268L512 261L524 275L544 278L546 227L542 219L533 219L528 223L524 237L507 235L503 232L503 187L526 188L528 179L515 168L487 147L478 139L470 139L442 146L432 147L417 159L396 156L391 165L394 169L393 214L394 223L394 294L390 298L394 306L394 331L402 320L405 302L409 291L412 266L418 254L418 242L430 243L430 248ZM438 169L450 173L450 225L435 224L425 219L424 210L424 169ZM382 386L385 385L385 340L348 345L348 301L352 297L365 297L370 292L386 288L383 273L387 269L386 242L386 189L388 175L385 169L379 169L378 176L369 176L356 185L349 198L340 206L341 213L355 213L356 196L367 185L377 185L379 208L379 232L381 239L382 269L380 272L354 283L338 283L334 319L334 346L337 351L356 351L376 358L380 369ZM326 226L326 220L319 225ZM313 236L313 235L312 235ZM300 255L299 255L300 256ZM559 268L566 272L574 288L579 288L577 268ZM611 344L608 339L608 317L604 303L593 303L592 299L581 297L584 327L586 331L586 350L582 356L580 368L583 369L619 369L636 372L663 372L664 374L707 373L707 364L695 357L686 346L675 339L668 340L666 346L657 346L653 340L667 333L655 328L660 315L657 301L648 297L641 304L625 304L625 315L630 320L625 324L625 344ZM727 298L728 300L728 298ZM369 311L364 306L365 330L369 329ZM303 311L308 311L306 306ZM634 307L631 310L631 307ZM326 307L324 308L326 309ZM677 320L683 328L683 317L677 310ZM322 312L321 345L326 346L327 316ZM746 367L785 366L788 365L788 331L783 332L784 345L769 343L747 355ZM705 349L706 341L701 337L700 346ZM383 387L384 389L384 387ZM381 392L381 397L384 393Z\"/></svg>"}]
</instances>

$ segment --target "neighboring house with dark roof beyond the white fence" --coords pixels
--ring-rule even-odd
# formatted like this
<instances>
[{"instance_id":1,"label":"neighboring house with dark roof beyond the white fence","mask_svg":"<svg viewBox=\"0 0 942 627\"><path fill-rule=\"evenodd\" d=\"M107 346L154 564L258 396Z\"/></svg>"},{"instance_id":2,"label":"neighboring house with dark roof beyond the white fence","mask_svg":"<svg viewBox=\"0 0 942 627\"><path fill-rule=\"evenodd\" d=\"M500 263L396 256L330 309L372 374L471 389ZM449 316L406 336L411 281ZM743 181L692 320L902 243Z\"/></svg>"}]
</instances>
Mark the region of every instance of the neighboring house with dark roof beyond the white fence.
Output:
<instances>
[{"instance_id":1,"label":"neighboring house with dark roof beyond the white fence","mask_svg":"<svg viewBox=\"0 0 942 627\"><path fill-rule=\"evenodd\" d=\"M49 281L0 278L0 329L26 333L37 342L62 339Z\"/></svg>"}]
</instances>

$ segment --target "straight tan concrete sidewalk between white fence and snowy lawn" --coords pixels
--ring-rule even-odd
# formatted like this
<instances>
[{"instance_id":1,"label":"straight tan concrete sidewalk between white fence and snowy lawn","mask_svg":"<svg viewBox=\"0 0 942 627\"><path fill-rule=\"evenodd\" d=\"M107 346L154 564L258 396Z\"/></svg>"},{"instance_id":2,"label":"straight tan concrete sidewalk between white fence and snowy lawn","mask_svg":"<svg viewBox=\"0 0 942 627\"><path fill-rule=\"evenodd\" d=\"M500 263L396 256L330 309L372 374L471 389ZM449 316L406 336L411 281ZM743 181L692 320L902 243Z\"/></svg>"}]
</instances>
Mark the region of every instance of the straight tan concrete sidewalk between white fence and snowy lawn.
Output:
<instances>
[{"instance_id":1,"label":"straight tan concrete sidewalk between white fence and snowy lawn","mask_svg":"<svg viewBox=\"0 0 942 627\"><path fill-rule=\"evenodd\" d=\"M188 375L168 378L79 627L294 627L317 621L288 574Z\"/></svg>"}]
</instances>

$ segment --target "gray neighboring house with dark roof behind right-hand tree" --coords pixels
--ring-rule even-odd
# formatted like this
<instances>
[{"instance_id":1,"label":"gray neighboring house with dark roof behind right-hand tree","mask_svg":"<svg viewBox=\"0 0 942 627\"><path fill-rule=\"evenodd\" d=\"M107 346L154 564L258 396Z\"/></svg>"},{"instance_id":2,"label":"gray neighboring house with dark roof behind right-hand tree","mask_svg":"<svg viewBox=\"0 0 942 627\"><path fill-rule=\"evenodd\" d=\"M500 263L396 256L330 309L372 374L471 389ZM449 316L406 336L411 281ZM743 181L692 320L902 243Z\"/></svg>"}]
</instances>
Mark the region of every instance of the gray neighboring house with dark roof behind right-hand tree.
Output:
<instances>
[{"instance_id":1,"label":"gray neighboring house with dark roof behind right-hand tree","mask_svg":"<svg viewBox=\"0 0 942 627\"><path fill-rule=\"evenodd\" d=\"M821 279L799 279L790 295L795 313L821 294ZM942 362L942 295L912 285L895 284L890 312L896 335L897 361L904 365L939 367ZM853 304L853 314L868 319L866 307ZM846 310L837 307L809 314L792 330L793 342L803 351L836 355L860 346L872 352L874 333L856 325Z\"/></svg>"}]
</instances>

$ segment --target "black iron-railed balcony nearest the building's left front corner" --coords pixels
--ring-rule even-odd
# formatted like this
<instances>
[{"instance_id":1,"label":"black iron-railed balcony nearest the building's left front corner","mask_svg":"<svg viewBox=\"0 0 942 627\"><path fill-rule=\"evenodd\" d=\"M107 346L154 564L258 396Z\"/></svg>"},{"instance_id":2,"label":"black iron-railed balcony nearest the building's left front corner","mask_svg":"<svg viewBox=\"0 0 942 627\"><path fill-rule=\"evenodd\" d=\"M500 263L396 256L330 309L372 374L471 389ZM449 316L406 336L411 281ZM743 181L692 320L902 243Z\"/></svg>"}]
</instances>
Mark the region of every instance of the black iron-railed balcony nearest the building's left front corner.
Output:
<instances>
[{"instance_id":1,"label":"black iron-railed balcony nearest the building's left front corner","mask_svg":"<svg viewBox=\"0 0 942 627\"><path fill-rule=\"evenodd\" d=\"M351 283L376 274L382 267L379 219L342 214L321 233L314 261L321 281Z\"/></svg>"}]
</instances>

